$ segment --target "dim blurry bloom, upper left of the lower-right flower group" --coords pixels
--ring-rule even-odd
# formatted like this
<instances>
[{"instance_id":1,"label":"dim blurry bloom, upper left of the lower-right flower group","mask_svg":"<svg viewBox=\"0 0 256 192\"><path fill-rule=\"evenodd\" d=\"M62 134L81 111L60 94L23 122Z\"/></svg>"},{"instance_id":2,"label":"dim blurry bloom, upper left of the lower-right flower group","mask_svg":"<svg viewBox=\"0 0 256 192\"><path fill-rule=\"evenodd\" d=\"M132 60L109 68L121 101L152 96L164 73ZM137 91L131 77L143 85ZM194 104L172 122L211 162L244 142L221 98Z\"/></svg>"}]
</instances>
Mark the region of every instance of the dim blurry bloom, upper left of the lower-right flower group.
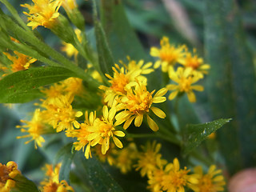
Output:
<instances>
[{"instance_id":1,"label":"dim blurry bloom, upper left of the lower-right flower group","mask_svg":"<svg viewBox=\"0 0 256 192\"><path fill-rule=\"evenodd\" d=\"M162 169L167 161L161 159L162 154L159 154L161 144L156 141L153 143L147 142L146 146L142 146L143 152L138 154L138 164L135 165L136 170L141 170L141 175L149 176L154 170Z\"/></svg>"}]
</instances>

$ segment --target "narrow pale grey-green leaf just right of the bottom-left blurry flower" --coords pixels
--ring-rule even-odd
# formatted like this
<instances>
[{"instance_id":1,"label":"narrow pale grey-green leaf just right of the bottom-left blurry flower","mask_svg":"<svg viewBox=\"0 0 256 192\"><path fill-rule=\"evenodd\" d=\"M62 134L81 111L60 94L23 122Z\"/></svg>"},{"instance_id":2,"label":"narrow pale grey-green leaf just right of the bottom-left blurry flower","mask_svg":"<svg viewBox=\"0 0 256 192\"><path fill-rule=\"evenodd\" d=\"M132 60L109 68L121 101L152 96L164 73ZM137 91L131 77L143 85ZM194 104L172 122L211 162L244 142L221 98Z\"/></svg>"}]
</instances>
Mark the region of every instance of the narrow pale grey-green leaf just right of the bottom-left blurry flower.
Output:
<instances>
[{"instance_id":1,"label":"narrow pale grey-green leaf just right of the bottom-left blurry flower","mask_svg":"<svg viewBox=\"0 0 256 192\"><path fill-rule=\"evenodd\" d=\"M59 181L65 180L66 182L70 183L70 168L74 158L74 153L71 152L72 146L72 142L67 144L66 146L63 146L54 158L54 165L56 165L60 161L62 162L62 167L59 171Z\"/></svg>"}]
</instances>

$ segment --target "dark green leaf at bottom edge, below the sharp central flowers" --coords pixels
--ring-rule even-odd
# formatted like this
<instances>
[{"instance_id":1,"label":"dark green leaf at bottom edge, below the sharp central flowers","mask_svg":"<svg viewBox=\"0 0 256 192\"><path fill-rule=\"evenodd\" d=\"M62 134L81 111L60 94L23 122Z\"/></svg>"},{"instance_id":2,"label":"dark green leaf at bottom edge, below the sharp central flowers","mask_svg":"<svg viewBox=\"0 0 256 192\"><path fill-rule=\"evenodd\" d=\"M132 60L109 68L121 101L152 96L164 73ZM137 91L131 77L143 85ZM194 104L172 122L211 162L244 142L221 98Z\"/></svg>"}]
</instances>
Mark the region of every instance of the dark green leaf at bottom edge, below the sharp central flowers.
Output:
<instances>
[{"instance_id":1,"label":"dark green leaf at bottom edge, below the sharp central flowers","mask_svg":"<svg viewBox=\"0 0 256 192\"><path fill-rule=\"evenodd\" d=\"M88 177L94 191L123 192L121 186L103 169L102 164L98 162L97 158L86 159L83 153L78 153L78 155L86 171L85 175Z\"/></svg>"}]
</instances>

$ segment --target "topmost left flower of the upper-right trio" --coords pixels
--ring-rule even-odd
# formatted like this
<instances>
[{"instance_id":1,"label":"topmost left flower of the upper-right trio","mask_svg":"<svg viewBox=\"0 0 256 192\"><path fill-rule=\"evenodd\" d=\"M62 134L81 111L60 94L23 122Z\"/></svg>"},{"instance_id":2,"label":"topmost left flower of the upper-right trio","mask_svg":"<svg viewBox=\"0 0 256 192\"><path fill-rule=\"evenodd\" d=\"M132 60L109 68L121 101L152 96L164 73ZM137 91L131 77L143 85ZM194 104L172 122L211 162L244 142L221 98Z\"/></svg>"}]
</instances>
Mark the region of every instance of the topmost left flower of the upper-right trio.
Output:
<instances>
[{"instance_id":1,"label":"topmost left flower of the upper-right trio","mask_svg":"<svg viewBox=\"0 0 256 192\"><path fill-rule=\"evenodd\" d=\"M162 71L167 72L177 62L181 62L185 56L186 46L175 46L170 45L169 38L163 37L160 42L161 49L157 47L151 47L150 55L159 58L154 64L154 68L162 66Z\"/></svg>"}]
</instances>

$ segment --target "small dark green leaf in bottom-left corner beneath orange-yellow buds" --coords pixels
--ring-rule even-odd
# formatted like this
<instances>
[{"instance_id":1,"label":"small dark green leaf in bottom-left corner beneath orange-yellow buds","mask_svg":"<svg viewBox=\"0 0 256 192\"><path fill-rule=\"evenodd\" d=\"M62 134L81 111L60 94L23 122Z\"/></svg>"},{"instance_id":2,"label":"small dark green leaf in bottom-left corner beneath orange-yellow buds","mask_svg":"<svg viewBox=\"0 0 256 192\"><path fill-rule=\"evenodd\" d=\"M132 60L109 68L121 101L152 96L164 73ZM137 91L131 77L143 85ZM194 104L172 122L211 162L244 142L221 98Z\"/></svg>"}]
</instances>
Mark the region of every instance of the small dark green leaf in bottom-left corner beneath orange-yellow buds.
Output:
<instances>
[{"instance_id":1,"label":"small dark green leaf in bottom-left corner beneath orange-yellow buds","mask_svg":"<svg viewBox=\"0 0 256 192\"><path fill-rule=\"evenodd\" d=\"M30 181L23 175L16 175L14 178L15 186L11 192L20 192L20 191L26 191L26 192L35 192L39 191L38 187L35 185L34 182Z\"/></svg>"}]
</instances>

